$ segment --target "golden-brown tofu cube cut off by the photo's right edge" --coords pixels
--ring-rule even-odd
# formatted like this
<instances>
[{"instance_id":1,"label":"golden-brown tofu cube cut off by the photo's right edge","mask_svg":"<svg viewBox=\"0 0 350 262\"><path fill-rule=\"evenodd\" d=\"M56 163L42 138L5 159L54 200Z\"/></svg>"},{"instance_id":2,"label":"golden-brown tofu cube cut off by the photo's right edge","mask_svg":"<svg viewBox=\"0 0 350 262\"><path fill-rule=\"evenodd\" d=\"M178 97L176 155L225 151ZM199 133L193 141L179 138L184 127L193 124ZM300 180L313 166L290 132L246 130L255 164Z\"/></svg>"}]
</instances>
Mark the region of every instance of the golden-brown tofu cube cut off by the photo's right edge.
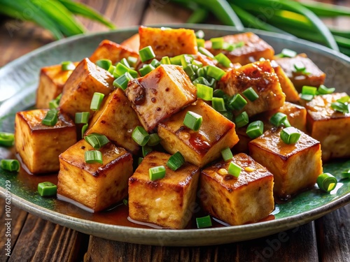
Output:
<instances>
[{"instance_id":1,"label":"golden-brown tofu cube cut off by the photo's right edge","mask_svg":"<svg viewBox=\"0 0 350 262\"><path fill-rule=\"evenodd\" d=\"M315 96L305 104L307 129L321 142L322 160L350 157L350 113L333 110L330 105L345 93Z\"/></svg>"}]
</instances>

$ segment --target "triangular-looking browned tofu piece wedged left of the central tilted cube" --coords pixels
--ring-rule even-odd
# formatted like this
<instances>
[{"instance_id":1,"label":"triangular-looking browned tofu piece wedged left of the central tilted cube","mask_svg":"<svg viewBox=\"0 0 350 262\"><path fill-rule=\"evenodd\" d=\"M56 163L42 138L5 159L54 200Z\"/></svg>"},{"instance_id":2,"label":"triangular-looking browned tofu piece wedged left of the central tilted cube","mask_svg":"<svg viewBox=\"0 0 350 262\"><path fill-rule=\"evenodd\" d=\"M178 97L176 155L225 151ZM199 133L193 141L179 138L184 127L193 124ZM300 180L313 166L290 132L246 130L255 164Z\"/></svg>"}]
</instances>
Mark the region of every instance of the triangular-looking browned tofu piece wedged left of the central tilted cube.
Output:
<instances>
[{"instance_id":1,"label":"triangular-looking browned tofu piece wedged left of the central tilted cube","mask_svg":"<svg viewBox=\"0 0 350 262\"><path fill-rule=\"evenodd\" d=\"M85 136L102 133L133 154L138 152L139 145L132 139L132 131L141 123L122 89L109 94L100 110L94 113L89 126Z\"/></svg>"}]
</instances>

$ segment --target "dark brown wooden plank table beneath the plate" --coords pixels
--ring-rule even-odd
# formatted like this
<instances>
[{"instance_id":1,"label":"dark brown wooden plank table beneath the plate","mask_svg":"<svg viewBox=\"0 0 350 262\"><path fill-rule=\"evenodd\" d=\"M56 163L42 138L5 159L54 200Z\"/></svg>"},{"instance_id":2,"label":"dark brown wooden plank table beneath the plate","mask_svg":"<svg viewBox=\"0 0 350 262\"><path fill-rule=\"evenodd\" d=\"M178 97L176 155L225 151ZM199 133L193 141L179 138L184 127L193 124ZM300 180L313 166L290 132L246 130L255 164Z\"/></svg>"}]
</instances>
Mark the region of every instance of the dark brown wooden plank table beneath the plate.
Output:
<instances>
[{"instance_id":1,"label":"dark brown wooden plank table beneath the plate","mask_svg":"<svg viewBox=\"0 0 350 262\"><path fill-rule=\"evenodd\" d=\"M168 0L80 0L118 26L185 22L190 13ZM349 3L348 3L349 4ZM127 15L126 15L127 14ZM90 31L106 30L80 19ZM328 20L349 27L349 20ZM53 41L47 31L29 22L0 20L0 66ZM0 200L1 224L5 202ZM210 247L155 247L113 242L52 224L15 206L10 258L5 227L0 227L1 261L350 261L350 205L321 219L266 238Z\"/></svg>"}]
</instances>

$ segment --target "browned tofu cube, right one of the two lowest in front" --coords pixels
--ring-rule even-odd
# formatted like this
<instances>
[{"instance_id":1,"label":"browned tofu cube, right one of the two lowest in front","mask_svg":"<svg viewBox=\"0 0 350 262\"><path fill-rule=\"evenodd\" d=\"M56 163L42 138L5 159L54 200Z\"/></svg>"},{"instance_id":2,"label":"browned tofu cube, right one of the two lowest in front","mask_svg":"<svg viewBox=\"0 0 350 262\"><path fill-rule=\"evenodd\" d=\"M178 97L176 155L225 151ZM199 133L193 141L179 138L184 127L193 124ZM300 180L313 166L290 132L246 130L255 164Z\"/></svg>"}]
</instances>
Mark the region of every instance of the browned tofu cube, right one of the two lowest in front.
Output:
<instances>
[{"instance_id":1,"label":"browned tofu cube, right one of the two lowest in front","mask_svg":"<svg viewBox=\"0 0 350 262\"><path fill-rule=\"evenodd\" d=\"M241 167L239 177L228 174L231 161L202 170L202 208L232 226L267 217L274 210L274 176L246 154L237 154L232 161Z\"/></svg>"}]
</instances>

